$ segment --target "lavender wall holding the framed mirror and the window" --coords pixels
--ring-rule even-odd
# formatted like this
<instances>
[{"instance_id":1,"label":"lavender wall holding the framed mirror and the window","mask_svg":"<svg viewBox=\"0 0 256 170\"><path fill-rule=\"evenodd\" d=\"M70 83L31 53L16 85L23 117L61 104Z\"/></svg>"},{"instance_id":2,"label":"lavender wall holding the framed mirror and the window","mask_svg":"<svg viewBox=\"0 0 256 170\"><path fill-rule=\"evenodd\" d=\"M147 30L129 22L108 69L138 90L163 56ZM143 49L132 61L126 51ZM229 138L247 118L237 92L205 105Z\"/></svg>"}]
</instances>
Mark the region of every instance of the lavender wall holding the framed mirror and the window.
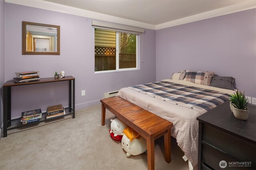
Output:
<instances>
[{"instance_id":1,"label":"lavender wall holding the framed mirror and the window","mask_svg":"<svg viewBox=\"0 0 256 170\"><path fill-rule=\"evenodd\" d=\"M94 73L94 28L92 19L16 4L5 4L5 81L14 72L38 70L40 77L65 71L76 78L76 109L99 104L104 92L156 80L156 31L144 34L144 63L140 70ZM60 56L22 55L22 21L60 25ZM86 90L86 96L81 96ZM12 117L22 111L62 104L68 106L68 82L12 88Z\"/></svg>"}]
</instances>

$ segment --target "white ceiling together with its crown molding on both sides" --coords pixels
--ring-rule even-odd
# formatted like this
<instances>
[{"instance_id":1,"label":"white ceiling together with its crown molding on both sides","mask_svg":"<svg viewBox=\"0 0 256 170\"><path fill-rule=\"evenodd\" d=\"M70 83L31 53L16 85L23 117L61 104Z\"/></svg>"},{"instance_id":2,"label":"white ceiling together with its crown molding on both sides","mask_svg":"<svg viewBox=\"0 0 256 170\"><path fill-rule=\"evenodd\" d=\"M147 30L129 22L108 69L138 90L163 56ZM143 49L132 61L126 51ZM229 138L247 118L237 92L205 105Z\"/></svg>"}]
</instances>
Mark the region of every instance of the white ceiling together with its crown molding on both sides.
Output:
<instances>
[{"instance_id":1,"label":"white ceiling together with its crown molding on both sides","mask_svg":"<svg viewBox=\"0 0 256 170\"><path fill-rule=\"evenodd\" d=\"M155 30L256 8L256 0L4 1Z\"/></svg>"}]
</instances>

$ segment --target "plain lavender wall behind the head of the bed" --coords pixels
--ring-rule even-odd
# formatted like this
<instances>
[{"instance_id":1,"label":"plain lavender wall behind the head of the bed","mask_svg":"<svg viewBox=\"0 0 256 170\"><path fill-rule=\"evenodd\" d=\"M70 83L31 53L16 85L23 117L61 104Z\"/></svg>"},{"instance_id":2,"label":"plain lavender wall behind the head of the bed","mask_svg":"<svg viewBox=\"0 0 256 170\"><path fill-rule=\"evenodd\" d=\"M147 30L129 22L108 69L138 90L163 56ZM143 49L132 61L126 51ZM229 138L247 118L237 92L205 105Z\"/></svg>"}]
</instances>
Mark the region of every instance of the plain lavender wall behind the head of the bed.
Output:
<instances>
[{"instance_id":1,"label":"plain lavender wall behind the head of the bed","mask_svg":"<svg viewBox=\"0 0 256 170\"><path fill-rule=\"evenodd\" d=\"M255 98L256 9L157 30L156 80L186 69L232 76Z\"/></svg>"}]
</instances>

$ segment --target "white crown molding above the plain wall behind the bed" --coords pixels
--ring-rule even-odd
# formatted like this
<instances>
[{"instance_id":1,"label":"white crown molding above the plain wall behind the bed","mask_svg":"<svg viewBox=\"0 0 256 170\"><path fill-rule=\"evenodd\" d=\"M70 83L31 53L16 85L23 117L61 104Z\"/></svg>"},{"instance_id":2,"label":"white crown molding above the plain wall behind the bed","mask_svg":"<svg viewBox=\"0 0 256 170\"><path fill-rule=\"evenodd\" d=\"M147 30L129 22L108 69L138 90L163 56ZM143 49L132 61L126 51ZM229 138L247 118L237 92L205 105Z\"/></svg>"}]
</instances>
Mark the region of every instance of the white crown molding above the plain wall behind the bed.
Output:
<instances>
[{"instance_id":1,"label":"white crown molding above the plain wall behind the bed","mask_svg":"<svg viewBox=\"0 0 256 170\"><path fill-rule=\"evenodd\" d=\"M207 12L203 12L200 14L196 14L193 16L189 16L189 17L185 17L185 18L181 18L178 20L174 20L174 21L169 21L166 23L160 23L158 25L156 25L156 30L158 29L163 29L163 28L168 28L168 27L173 27L176 25L182 25L185 23L190 23L190 22L194 22L194 21L200 21L200 20L205 20L208 18L213 18L213 17L217 17L217 16L223 16L226 14L232 14L235 12L240 12L240 11L244 11L244 10L250 10L256 8L256 1L255 0L248 0L246 2L242 2L239 4L234 4L231 6L226 6L223 8L218 8L216 10L211 10L211 11L207 11Z\"/></svg>"}]
</instances>

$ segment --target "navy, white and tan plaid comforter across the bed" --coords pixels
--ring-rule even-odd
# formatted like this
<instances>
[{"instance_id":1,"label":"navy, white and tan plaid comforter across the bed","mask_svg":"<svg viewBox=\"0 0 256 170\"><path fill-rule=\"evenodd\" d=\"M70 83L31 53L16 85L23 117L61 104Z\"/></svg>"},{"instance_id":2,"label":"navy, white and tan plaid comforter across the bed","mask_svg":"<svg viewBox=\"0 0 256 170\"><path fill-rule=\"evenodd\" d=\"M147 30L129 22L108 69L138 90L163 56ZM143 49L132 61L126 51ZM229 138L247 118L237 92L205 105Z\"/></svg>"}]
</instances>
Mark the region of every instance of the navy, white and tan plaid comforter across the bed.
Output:
<instances>
[{"instance_id":1,"label":"navy, white and tan plaid comforter across the bed","mask_svg":"<svg viewBox=\"0 0 256 170\"><path fill-rule=\"evenodd\" d=\"M196 110L200 114L226 102L230 96L229 94L213 90L184 86L165 81L129 88L170 104Z\"/></svg>"}]
</instances>

